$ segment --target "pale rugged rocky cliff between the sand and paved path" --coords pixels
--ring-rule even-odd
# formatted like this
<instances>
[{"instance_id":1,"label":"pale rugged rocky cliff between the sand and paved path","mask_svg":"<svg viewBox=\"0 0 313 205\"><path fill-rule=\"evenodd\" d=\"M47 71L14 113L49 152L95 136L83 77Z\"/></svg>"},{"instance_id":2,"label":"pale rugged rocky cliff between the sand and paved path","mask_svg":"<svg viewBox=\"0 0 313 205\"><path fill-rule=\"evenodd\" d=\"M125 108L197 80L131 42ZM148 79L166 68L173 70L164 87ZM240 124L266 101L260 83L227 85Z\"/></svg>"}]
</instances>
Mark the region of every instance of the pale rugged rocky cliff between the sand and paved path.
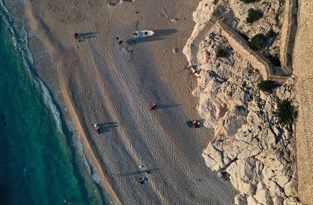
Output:
<instances>
[{"instance_id":1,"label":"pale rugged rocky cliff between the sand and paved path","mask_svg":"<svg viewBox=\"0 0 313 205\"><path fill-rule=\"evenodd\" d=\"M269 1L263 9L279 11L281 4L275 2ZM230 3L239 23L244 22L244 11L251 5L265 5ZM213 1L203 0L193 14L197 24L183 50L188 60L192 59L190 45L205 24L201 16L209 19L213 9ZM264 21L269 24L264 31L275 28L274 22L266 19L259 20L255 32L263 31ZM226 57L217 57L219 48ZM206 165L213 171L226 169L231 174L231 183L241 192L235 204L302 204L296 198L294 125L284 128L275 117L279 100L295 99L295 78L276 81L273 92L259 91L257 83L264 76L240 55L239 49L230 46L218 25L200 43L197 58L201 72L192 94L199 97L197 109L205 119L204 126L214 129L216 136L203 151ZM293 104L298 105L296 101Z\"/></svg>"}]
</instances>

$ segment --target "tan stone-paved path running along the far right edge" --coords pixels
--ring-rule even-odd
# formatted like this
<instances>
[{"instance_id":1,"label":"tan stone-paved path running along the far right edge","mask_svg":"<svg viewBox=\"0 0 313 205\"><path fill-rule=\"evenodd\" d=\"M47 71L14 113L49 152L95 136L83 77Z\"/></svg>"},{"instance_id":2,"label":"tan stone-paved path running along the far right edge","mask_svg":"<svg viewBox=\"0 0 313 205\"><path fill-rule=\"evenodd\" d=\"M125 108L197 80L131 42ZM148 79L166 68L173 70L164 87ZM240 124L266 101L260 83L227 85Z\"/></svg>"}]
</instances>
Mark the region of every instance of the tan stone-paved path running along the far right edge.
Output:
<instances>
[{"instance_id":1,"label":"tan stone-paved path running along the far right edge","mask_svg":"<svg viewBox=\"0 0 313 205\"><path fill-rule=\"evenodd\" d=\"M299 196L313 204L313 28L312 1L299 1L300 17L294 47L299 115L296 123Z\"/></svg>"}]
</instances>

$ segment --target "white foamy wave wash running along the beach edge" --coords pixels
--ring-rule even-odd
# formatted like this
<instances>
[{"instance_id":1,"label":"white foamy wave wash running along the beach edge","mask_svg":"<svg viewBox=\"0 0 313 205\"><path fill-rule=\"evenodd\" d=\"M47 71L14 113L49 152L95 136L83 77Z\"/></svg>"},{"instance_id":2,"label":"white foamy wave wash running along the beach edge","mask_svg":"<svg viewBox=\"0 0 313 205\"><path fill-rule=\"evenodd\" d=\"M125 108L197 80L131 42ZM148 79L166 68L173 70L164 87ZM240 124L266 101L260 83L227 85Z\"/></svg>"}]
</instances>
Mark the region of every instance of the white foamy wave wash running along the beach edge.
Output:
<instances>
[{"instance_id":1,"label":"white foamy wave wash running along the beach edge","mask_svg":"<svg viewBox=\"0 0 313 205\"><path fill-rule=\"evenodd\" d=\"M44 42L37 36L37 34L33 31L27 32L26 28L29 26L29 22L26 16L25 11L25 1L24 0L11 0L4 2L0 1L0 5L3 8L3 12L5 15L5 21L8 22L8 29L11 30L13 37L12 37L12 44L14 45L15 49L18 49L23 54L23 60L25 65L28 69L30 77L36 82L38 85L39 90L43 95L43 99L45 104L51 109L52 114L54 116L54 120L56 121L58 130L63 133L62 130L62 121L60 119L60 111L57 109L56 104L59 106L60 110L62 111L64 122L66 123L69 131L72 134L70 138L71 145L75 147L76 151L80 154L82 162L86 165L89 173L91 174L91 179L95 182L100 184L100 179L96 173L91 173L91 166L85 156L84 147L80 141L80 133L77 129L76 124L71 120L69 115L68 109L64 102L61 100L61 92L62 89L60 88L59 81L60 81L60 73L59 67L57 64L53 62L51 54L47 51L46 45ZM38 40L38 44L34 41ZM35 45L33 43L36 43ZM30 45L33 46L34 51L30 49ZM38 55L38 52L41 54ZM36 66L34 66L34 62L36 62ZM45 66L49 65L48 70L54 70L55 75L50 79L45 79L43 82L39 79L36 75L33 75L32 71L38 69L45 69ZM43 66L40 68L40 66ZM47 80L47 82L46 82ZM49 89L48 89L49 88ZM53 93L53 97L50 95L50 91ZM55 103L56 104L55 104ZM108 196L109 201L112 204L115 202Z\"/></svg>"}]
</instances>

